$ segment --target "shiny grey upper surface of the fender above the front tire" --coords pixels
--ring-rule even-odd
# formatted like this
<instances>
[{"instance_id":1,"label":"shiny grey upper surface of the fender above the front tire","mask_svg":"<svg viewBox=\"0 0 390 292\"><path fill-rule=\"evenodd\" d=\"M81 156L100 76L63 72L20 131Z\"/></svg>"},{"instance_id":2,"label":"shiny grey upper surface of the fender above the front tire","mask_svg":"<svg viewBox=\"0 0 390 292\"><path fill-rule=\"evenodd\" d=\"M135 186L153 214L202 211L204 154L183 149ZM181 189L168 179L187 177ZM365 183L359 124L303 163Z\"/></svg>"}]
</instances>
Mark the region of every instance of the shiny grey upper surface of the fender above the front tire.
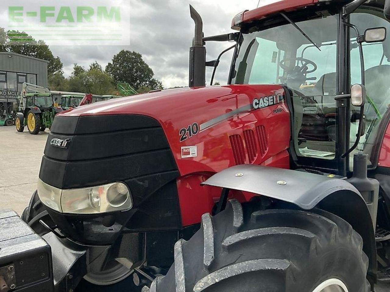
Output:
<instances>
[{"instance_id":1,"label":"shiny grey upper surface of the fender above the front tire","mask_svg":"<svg viewBox=\"0 0 390 292\"><path fill-rule=\"evenodd\" d=\"M264 195L304 210L313 209L325 197L340 190L353 192L364 201L359 191L345 180L261 165L233 166L203 184Z\"/></svg>"}]
</instances>

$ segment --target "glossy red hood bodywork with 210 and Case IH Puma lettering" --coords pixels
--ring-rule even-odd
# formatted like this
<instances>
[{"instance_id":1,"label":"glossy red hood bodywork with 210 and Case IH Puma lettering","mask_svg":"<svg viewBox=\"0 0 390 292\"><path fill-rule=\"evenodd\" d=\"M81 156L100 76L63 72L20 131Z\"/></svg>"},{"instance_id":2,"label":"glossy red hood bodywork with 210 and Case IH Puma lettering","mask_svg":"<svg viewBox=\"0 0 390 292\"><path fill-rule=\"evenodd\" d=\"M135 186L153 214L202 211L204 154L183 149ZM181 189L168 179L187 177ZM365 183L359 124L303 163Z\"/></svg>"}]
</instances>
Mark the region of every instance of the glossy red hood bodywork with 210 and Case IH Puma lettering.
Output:
<instances>
[{"instance_id":1,"label":"glossy red hood bodywork with 210 and Case IH Puma lettering","mask_svg":"<svg viewBox=\"0 0 390 292\"><path fill-rule=\"evenodd\" d=\"M285 102L263 109L248 110L224 119L184 142L180 142L180 129L193 123L201 125L248 106L254 99L275 94L284 95L283 88L279 85L181 88L89 104L61 115L142 114L158 120L167 136L181 175L177 179L177 187L182 223L187 226L199 223L202 214L210 212L220 196L220 189L200 186L200 183L216 172L235 165L230 135L240 135L243 139L246 164L249 163L249 158L243 131L253 130L257 155L252 164L289 168L287 148L290 141L290 113ZM277 112L275 109L281 111ZM264 126L268 140L265 153L259 150L260 141L256 135L256 127L260 125ZM181 158L181 147L184 146L197 146L197 157ZM252 194L241 192L234 192L232 195L239 201L247 201L252 197Z\"/></svg>"}]
</instances>

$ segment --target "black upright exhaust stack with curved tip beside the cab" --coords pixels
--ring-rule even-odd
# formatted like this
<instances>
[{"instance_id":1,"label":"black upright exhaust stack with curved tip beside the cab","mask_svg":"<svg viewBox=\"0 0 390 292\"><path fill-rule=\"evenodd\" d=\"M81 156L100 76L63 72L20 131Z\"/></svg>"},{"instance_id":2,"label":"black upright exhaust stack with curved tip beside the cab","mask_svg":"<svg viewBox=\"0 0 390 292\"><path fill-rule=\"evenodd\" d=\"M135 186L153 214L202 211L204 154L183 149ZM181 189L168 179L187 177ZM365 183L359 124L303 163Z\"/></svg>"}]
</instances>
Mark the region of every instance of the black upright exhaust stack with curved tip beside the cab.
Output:
<instances>
[{"instance_id":1,"label":"black upright exhaust stack with curved tip beside the cab","mask_svg":"<svg viewBox=\"0 0 390 292\"><path fill-rule=\"evenodd\" d=\"M190 87L206 86L206 47L203 45L203 21L190 5L191 18L195 22L195 36L190 47Z\"/></svg>"}]
</instances>

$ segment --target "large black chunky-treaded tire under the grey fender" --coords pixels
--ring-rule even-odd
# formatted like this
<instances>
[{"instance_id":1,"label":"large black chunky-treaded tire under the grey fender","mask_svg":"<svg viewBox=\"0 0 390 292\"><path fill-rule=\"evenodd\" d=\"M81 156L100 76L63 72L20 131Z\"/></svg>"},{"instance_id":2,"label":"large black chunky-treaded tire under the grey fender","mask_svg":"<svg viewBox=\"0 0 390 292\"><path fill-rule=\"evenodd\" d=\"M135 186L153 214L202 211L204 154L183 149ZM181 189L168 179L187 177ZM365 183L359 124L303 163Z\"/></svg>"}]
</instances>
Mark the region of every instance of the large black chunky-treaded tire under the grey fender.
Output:
<instances>
[{"instance_id":1,"label":"large black chunky-treaded tire under the grey fender","mask_svg":"<svg viewBox=\"0 0 390 292\"><path fill-rule=\"evenodd\" d=\"M369 292L368 258L351 225L319 210L253 211L232 200L175 245L151 292Z\"/></svg>"}]
</instances>

